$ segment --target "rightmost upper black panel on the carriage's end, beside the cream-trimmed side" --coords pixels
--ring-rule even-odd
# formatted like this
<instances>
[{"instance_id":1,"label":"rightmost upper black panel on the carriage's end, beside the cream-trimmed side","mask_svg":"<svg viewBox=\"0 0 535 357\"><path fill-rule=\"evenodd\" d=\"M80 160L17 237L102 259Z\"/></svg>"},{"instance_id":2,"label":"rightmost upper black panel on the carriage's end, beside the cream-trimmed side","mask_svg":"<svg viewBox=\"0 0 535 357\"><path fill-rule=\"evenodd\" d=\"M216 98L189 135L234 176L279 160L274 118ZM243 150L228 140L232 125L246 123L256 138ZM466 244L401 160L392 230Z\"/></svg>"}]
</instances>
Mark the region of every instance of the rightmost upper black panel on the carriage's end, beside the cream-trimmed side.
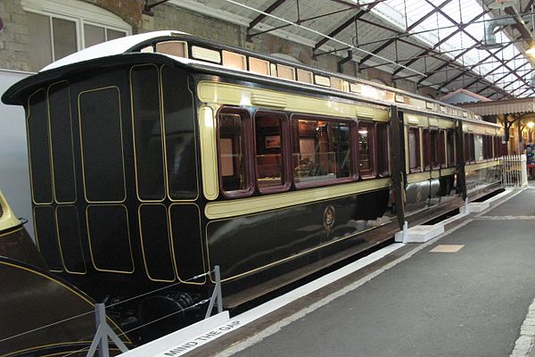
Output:
<instances>
[{"instance_id":1,"label":"rightmost upper black panel on the carriage's end, beside the cream-trimmed side","mask_svg":"<svg viewBox=\"0 0 535 357\"><path fill-rule=\"evenodd\" d=\"M193 98L187 87L177 86L187 80L184 71L169 66L161 69L168 190L172 200L191 200L199 192Z\"/></svg>"}]
</instances>

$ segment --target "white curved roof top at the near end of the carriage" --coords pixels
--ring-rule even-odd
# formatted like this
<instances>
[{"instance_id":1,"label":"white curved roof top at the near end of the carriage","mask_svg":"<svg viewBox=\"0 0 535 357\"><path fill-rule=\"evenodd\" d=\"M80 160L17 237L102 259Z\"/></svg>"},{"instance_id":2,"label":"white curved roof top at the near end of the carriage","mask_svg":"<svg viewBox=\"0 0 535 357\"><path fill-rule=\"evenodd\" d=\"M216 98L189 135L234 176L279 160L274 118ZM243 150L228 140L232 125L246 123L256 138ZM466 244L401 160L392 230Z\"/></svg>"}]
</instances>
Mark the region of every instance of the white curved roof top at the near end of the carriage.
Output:
<instances>
[{"instance_id":1,"label":"white curved roof top at the near end of the carriage","mask_svg":"<svg viewBox=\"0 0 535 357\"><path fill-rule=\"evenodd\" d=\"M172 36L177 34L185 34L185 32L173 31L173 30L164 30L164 31L153 31L146 32L139 35L120 37L108 42L103 42L95 46L87 47L79 52L70 54L66 57L63 57L61 60L53 62L47 65L39 72L53 70L55 68L63 67L68 64L94 60L96 58L108 57L115 54L124 54L128 49L140 44L148 39L156 37L165 37Z\"/></svg>"}]
</instances>

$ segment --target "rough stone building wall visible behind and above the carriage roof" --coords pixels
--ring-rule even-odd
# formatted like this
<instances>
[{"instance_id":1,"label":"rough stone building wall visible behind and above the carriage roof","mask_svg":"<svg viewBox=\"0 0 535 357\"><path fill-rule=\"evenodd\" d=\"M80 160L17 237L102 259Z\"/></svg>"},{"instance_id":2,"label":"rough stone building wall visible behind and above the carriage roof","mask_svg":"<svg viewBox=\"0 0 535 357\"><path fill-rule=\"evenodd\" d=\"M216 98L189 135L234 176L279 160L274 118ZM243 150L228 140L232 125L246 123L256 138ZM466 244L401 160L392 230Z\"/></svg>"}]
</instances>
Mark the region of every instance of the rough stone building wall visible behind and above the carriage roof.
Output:
<instances>
[{"instance_id":1,"label":"rough stone building wall visible behind and above the carriage roof","mask_svg":"<svg viewBox=\"0 0 535 357\"><path fill-rule=\"evenodd\" d=\"M148 16L143 14L144 0L82 1L95 4L116 14L132 26L134 34L159 29L177 29L193 36L229 46L247 48L260 54L289 55L306 65L332 72L338 71L337 63L342 60L341 56L333 54L314 58L311 47L269 33L247 41L246 29L243 26L190 12L172 4L158 5L152 9L153 16ZM0 33L0 68L29 71L28 20L26 13L22 10L21 0L0 0L0 16L4 19L4 32ZM398 79L392 82L391 73L378 69L358 72L356 63L352 61L345 63L342 71L350 76L364 79L380 79L387 85L409 92L416 91L413 81Z\"/></svg>"}]
</instances>

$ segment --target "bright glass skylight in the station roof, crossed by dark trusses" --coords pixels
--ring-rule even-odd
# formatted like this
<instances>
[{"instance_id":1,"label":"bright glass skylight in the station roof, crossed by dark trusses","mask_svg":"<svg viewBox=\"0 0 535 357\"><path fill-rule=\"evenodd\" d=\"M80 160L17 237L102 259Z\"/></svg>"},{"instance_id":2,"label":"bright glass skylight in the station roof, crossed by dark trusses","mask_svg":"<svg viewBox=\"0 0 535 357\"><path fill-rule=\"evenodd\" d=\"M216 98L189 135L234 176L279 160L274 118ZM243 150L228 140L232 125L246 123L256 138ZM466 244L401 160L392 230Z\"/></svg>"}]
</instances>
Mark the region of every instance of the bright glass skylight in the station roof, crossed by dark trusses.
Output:
<instances>
[{"instance_id":1,"label":"bright glass skylight in the station roof, crossed by dark trusses","mask_svg":"<svg viewBox=\"0 0 535 357\"><path fill-rule=\"evenodd\" d=\"M435 48L451 59L455 58L465 67L473 67L473 72L485 76L491 82L498 80L498 87L514 95L520 95L526 86L514 75L514 71L523 77L523 74L531 71L531 64L514 44L510 44L511 38L501 30L496 33L496 41L498 44L504 44L503 46L490 50L475 48L476 41L481 41L485 37L483 21L492 19L488 14L482 15L484 10L477 0L452 0L441 8L443 14L434 12L424 21L420 21L425 14L434 10L432 4L439 6L443 1L386 0L374 6L372 12L391 22L401 31L412 26L410 33L415 34L414 36L427 46ZM451 36L457 31L459 23L469 21L474 23L466 26L465 31L461 30ZM449 38L444 40L446 37ZM435 46L435 44L440 45ZM470 47L474 48L468 50ZM506 62L506 65L500 60ZM532 93L527 91L523 96Z\"/></svg>"}]
</instances>

